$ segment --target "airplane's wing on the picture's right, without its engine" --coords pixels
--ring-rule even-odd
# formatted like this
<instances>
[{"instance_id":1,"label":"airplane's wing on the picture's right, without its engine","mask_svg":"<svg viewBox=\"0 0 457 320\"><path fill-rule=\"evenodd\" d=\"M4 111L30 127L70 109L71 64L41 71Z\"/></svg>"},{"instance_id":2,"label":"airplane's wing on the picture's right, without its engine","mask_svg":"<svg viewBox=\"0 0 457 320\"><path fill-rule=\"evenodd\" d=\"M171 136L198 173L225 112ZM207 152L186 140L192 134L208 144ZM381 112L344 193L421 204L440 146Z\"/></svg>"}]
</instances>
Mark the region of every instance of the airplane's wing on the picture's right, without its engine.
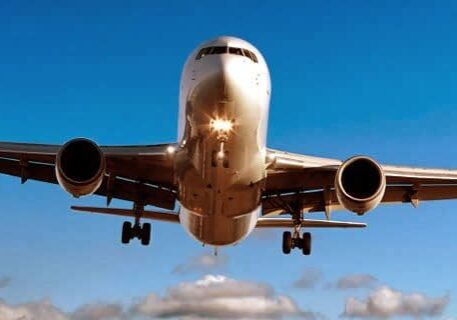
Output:
<instances>
[{"instance_id":1,"label":"airplane's wing on the picture's right, without its engine","mask_svg":"<svg viewBox=\"0 0 457 320\"><path fill-rule=\"evenodd\" d=\"M304 212L344 209L335 192L343 161L269 149L263 214L277 215L300 203ZM386 191L381 204L457 199L457 170L381 165Z\"/></svg>"}]
</instances>

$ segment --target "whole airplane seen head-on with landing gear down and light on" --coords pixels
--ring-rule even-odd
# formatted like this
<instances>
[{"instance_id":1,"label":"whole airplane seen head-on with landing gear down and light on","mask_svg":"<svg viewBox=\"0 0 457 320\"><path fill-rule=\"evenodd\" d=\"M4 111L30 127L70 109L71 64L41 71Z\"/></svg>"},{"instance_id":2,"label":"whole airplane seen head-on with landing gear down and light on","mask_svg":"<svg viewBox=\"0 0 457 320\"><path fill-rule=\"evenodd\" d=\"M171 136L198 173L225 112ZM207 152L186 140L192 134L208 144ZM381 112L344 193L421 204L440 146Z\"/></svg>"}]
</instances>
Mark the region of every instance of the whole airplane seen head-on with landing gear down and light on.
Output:
<instances>
[{"instance_id":1,"label":"whole airplane seen head-on with landing gear down and light on","mask_svg":"<svg viewBox=\"0 0 457 320\"><path fill-rule=\"evenodd\" d=\"M270 74L252 44L218 37L198 46L181 76L177 142L99 146L0 142L0 173L22 183L59 184L75 198L106 197L106 207L78 212L130 217L121 241L149 245L145 219L181 224L202 244L234 245L256 228L283 228L282 251L311 254L308 228L364 228L331 220L380 204L457 198L457 170L401 167L371 157L345 161L267 147ZM111 208L112 199L132 209ZM313 212L326 219L308 219Z\"/></svg>"}]
</instances>

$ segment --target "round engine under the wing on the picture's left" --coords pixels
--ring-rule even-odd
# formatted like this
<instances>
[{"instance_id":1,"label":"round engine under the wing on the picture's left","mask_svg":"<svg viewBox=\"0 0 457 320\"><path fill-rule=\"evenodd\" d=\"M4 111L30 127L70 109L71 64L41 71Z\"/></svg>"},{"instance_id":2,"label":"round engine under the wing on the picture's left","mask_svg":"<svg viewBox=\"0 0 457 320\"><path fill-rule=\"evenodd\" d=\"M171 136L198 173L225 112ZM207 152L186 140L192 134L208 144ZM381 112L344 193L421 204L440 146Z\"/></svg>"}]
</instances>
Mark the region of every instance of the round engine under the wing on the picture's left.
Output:
<instances>
[{"instance_id":1,"label":"round engine under the wing on the picture's left","mask_svg":"<svg viewBox=\"0 0 457 320\"><path fill-rule=\"evenodd\" d=\"M91 140L78 138L62 146L56 158L60 186L78 198L97 191L105 174L105 157Z\"/></svg>"}]
</instances>

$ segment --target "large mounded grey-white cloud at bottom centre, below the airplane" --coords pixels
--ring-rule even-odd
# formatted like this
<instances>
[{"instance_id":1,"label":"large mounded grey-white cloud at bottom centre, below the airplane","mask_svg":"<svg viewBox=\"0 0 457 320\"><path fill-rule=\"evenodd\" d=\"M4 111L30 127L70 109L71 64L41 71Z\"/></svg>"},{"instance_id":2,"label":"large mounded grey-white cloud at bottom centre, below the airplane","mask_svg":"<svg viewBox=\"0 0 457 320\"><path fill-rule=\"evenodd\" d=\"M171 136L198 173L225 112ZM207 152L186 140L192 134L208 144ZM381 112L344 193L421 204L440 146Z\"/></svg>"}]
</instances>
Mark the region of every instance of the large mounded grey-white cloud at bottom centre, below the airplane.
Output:
<instances>
[{"instance_id":1,"label":"large mounded grey-white cloud at bottom centre, below the airplane","mask_svg":"<svg viewBox=\"0 0 457 320\"><path fill-rule=\"evenodd\" d=\"M300 310L291 298L275 296L267 285L211 275L170 288L164 297L151 294L135 305L131 312L156 318L315 318L313 313Z\"/></svg>"}]
</instances>

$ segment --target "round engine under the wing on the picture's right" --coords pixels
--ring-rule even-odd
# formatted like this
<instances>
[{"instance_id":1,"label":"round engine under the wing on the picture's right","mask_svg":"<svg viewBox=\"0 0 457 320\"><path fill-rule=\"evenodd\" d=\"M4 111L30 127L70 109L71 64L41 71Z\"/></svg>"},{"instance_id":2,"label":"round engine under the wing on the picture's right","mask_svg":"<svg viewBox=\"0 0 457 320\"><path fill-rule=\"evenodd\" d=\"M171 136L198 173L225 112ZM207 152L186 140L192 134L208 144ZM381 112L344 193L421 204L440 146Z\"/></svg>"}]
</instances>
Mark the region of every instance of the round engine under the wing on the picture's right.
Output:
<instances>
[{"instance_id":1,"label":"round engine under the wing on the picture's right","mask_svg":"<svg viewBox=\"0 0 457 320\"><path fill-rule=\"evenodd\" d=\"M386 177L381 166L369 157L346 160L335 177L338 201L358 215L376 208L386 191Z\"/></svg>"}]
</instances>

